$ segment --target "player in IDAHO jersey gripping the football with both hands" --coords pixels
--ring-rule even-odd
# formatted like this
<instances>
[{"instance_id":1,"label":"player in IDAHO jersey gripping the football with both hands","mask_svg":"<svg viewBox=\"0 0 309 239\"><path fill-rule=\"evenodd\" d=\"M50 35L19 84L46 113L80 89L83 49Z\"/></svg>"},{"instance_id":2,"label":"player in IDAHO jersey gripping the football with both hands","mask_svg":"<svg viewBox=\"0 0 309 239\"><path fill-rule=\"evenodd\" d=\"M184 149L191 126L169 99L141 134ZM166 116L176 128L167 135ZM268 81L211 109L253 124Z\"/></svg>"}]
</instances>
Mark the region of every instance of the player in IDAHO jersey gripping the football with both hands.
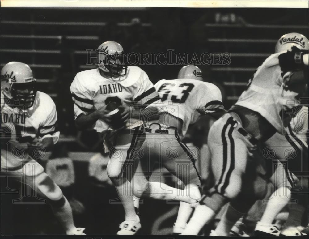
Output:
<instances>
[{"instance_id":1,"label":"player in IDAHO jersey gripping the football with both hands","mask_svg":"<svg viewBox=\"0 0 309 239\"><path fill-rule=\"evenodd\" d=\"M140 228L136 215L130 180L131 162L137 159L136 144L141 113L152 103L161 103L154 85L145 71L127 66L122 46L106 41L98 47L98 68L77 73L71 84L75 124L78 129L93 127L104 134L104 146L110 152L107 173L116 186L125 210L125 221L117 234L133 235ZM148 152L145 151L145 155ZM155 192L150 196L162 198L163 184L152 182ZM183 191L164 185L176 195L176 200L193 202ZM164 197L164 196L163 196Z\"/></svg>"}]
</instances>

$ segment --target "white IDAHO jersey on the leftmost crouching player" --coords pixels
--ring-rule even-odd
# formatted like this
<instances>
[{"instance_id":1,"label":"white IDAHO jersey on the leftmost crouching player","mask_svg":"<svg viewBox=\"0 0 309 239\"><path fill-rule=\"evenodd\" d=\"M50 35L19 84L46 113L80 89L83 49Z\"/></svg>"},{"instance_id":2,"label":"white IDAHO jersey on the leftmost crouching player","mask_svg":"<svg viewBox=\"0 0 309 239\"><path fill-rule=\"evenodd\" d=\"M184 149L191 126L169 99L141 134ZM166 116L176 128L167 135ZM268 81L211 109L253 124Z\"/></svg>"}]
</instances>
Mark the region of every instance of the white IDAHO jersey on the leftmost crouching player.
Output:
<instances>
[{"instance_id":1,"label":"white IDAHO jersey on the leftmost crouching player","mask_svg":"<svg viewBox=\"0 0 309 239\"><path fill-rule=\"evenodd\" d=\"M42 139L52 137L53 142L57 143L59 131L56 129L57 111L56 105L52 98L44 92L38 91L33 106L24 109L21 105L12 108L8 101L1 105L1 127L10 129L6 137L18 139L19 143L28 143L36 145ZM23 146L21 145L21 148ZM29 156L16 148L13 155L9 150L1 150L1 168L12 169L20 167L22 160L28 159ZM14 153L14 152L13 152Z\"/></svg>"}]
</instances>

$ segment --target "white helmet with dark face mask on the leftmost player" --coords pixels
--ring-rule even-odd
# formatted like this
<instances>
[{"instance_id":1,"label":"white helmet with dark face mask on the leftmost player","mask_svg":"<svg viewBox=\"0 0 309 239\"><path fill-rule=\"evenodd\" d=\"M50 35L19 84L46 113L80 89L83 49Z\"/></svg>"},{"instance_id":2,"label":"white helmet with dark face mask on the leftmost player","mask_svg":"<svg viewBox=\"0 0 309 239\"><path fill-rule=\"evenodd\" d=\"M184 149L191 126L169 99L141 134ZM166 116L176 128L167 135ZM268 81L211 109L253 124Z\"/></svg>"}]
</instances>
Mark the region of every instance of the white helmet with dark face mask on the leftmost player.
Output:
<instances>
[{"instance_id":1,"label":"white helmet with dark face mask on the leftmost player","mask_svg":"<svg viewBox=\"0 0 309 239\"><path fill-rule=\"evenodd\" d=\"M9 99L32 107L36 97L36 79L32 70L22 62L9 62L1 69L1 91Z\"/></svg>"}]
</instances>

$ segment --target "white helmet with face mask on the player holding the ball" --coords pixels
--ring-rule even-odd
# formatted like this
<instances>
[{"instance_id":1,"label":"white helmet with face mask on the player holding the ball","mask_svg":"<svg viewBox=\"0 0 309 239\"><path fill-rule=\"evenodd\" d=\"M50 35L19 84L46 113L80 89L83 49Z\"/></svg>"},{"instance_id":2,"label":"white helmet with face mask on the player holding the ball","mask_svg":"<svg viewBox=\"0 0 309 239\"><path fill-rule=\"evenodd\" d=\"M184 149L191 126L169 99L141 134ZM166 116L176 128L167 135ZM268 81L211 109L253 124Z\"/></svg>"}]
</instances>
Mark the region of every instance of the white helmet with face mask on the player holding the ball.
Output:
<instances>
[{"instance_id":1,"label":"white helmet with face mask on the player holding the ball","mask_svg":"<svg viewBox=\"0 0 309 239\"><path fill-rule=\"evenodd\" d=\"M115 76L127 74L127 59L122 46L116 41L105 41L98 49L99 69Z\"/></svg>"}]
</instances>

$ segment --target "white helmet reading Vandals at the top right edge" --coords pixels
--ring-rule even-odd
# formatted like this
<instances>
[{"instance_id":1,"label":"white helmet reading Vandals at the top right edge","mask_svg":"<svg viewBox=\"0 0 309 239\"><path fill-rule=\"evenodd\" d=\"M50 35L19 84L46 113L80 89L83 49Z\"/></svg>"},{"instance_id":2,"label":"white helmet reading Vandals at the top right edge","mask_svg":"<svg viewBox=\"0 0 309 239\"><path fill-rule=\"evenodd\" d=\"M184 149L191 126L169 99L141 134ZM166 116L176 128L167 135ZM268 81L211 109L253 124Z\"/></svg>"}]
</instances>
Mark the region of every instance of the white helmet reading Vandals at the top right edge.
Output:
<instances>
[{"instance_id":1,"label":"white helmet reading Vandals at the top right edge","mask_svg":"<svg viewBox=\"0 0 309 239\"><path fill-rule=\"evenodd\" d=\"M291 50L296 46L300 50L309 50L308 38L303 34L292 32L280 37L275 47L275 53Z\"/></svg>"}]
</instances>

